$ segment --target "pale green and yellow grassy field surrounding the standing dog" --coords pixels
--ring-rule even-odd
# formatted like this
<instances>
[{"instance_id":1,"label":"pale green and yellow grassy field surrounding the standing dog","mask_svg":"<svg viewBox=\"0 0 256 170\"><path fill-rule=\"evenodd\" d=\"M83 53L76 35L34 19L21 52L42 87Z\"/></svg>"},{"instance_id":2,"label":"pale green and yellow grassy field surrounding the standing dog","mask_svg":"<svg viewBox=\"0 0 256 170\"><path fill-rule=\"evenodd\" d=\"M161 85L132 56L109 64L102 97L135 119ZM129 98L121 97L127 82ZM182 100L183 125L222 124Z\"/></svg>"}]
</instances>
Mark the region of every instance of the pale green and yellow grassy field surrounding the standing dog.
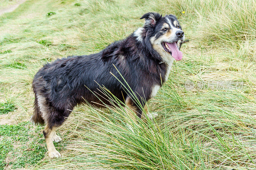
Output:
<instances>
[{"instance_id":1,"label":"pale green and yellow grassy field surrounding the standing dog","mask_svg":"<svg viewBox=\"0 0 256 170\"><path fill-rule=\"evenodd\" d=\"M123 109L76 107L49 159L28 122L35 73L125 38L148 11L175 14L189 40L148 102L159 116L132 132ZM256 169L255 37L255 0L28 0L0 16L0 170Z\"/></svg>"}]
</instances>

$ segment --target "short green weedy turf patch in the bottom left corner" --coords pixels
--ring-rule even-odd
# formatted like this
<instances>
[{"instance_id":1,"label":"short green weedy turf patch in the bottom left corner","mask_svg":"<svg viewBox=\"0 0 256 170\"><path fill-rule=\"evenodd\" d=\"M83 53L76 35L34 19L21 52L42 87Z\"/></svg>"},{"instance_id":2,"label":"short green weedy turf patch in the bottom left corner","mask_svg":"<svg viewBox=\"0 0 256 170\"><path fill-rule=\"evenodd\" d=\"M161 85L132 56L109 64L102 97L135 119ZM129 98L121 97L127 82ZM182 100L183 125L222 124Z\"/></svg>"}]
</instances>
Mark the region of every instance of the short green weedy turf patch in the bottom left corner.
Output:
<instances>
[{"instance_id":1,"label":"short green weedy turf patch in the bottom left corner","mask_svg":"<svg viewBox=\"0 0 256 170\"><path fill-rule=\"evenodd\" d=\"M34 165L44 158L44 138L42 134L35 136L35 129L42 128L35 128L30 122L0 126L1 170Z\"/></svg>"}]
</instances>

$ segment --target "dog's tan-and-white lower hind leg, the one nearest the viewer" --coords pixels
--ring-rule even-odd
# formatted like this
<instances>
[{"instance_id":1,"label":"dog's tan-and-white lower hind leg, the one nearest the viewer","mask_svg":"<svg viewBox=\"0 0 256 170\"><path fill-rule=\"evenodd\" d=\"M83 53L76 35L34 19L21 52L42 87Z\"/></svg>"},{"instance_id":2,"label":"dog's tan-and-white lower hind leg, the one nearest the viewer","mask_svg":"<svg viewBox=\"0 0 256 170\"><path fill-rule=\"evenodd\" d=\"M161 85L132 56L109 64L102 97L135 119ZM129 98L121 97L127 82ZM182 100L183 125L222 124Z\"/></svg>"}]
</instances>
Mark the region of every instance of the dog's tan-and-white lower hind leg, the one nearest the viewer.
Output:
<instances>
[{"instance_id":1,"label":"dog's tan-and-white lower hind leg, the one nearest the viewer","mask_svg":"<svg viewBox=\"0 0 256 170\"><path fill-rule=\"evenodd\" d=\"M60 152L58 152L55 148L55 146L53 145L53 140L54 137L56 137L56 132L55 132L55 127L50 127L48 123L46 123L46 126L44 128L44 138L46 141L46 145L47 145L47 150L48 150L48 154L49 157L53 158L53 157L60 157ZM56 136L54 136L56 135Z\"/></svg>"}]
</instances>

